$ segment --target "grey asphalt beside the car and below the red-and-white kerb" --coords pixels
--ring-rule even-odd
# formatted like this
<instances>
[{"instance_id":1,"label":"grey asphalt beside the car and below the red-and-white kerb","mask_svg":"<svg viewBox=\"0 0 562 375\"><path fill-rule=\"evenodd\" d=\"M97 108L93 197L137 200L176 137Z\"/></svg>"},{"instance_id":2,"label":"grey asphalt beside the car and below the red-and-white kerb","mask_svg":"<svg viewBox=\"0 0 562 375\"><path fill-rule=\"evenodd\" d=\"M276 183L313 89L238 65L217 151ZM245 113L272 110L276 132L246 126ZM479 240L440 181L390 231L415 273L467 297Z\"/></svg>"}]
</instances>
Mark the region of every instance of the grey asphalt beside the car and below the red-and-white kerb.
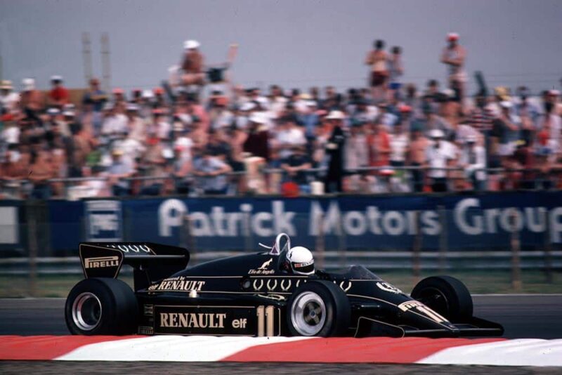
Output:
<instances>
[{"instance_id":1,"label":"grey asphalt beside the car and below the red-and-white kerb","mask_svg":"<svg viewBox=\"0 0 562 375\"><path fill-rule=\"evenodd\" d=\"M506 338L562 338L562 294L473 296L474 315L503 324ZM63 298L0 299L0 334L65 335ZM0 374L561 374L559 367L441 364L303 364L0 361Z\"/></svg>"}]
</instances>

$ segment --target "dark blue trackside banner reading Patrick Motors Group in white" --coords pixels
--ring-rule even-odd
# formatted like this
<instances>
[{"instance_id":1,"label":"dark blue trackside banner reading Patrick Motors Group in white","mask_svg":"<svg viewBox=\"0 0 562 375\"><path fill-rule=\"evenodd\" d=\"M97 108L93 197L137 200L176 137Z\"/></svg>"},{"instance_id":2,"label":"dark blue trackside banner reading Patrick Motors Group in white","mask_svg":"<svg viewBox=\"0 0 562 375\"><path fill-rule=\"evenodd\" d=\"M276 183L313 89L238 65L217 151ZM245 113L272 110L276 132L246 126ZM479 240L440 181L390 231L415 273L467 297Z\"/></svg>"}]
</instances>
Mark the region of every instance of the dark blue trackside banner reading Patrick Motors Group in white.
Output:
<instances>
[{"instance_id":1,"label":"dark blue trackside banner reading Patrick Motors Group in white","mask_svg":"<svg viewBox=\"0 0 562 375\"><path fill-rule=\"evenodd\" d=\"M520 232L521 244L528 248L562 242L562 192L168 197L51 201L48 209L51 246L59 251L76 249L85 240L181 244L185 213L190 214L197 250L240 250L248 243L269 243L277 232L287 232L295 244L305 246L314 246L323 232L327 249L344 244L347 249L409 250L417 230L427 250L438 249L442 233L450 250L505 249L513 230Z\"/></svg>"}]
</instances>

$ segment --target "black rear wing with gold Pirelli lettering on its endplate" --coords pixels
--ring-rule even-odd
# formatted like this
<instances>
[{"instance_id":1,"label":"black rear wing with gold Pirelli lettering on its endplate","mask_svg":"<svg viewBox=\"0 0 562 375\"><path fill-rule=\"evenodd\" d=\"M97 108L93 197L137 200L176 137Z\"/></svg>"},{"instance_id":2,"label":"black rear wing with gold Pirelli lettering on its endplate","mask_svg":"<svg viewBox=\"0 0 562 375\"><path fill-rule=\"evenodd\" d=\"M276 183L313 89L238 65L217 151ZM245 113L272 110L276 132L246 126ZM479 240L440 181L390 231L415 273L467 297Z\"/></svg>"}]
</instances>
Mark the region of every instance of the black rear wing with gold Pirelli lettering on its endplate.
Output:
<instances>
[{"instance_id":1,"label":"black rear wing with gold Pirelli lettering on its endplate","mask_svg":"<svg viewBox=\"0 0 562 375\"><path fill-rule=\"evenodd\" d=\"M86 279L116 279L122 265L131 265L135 290L184 270L189 263L187 249L150 242L81 242L78 252Z\"/></svg>"}]
</instances>

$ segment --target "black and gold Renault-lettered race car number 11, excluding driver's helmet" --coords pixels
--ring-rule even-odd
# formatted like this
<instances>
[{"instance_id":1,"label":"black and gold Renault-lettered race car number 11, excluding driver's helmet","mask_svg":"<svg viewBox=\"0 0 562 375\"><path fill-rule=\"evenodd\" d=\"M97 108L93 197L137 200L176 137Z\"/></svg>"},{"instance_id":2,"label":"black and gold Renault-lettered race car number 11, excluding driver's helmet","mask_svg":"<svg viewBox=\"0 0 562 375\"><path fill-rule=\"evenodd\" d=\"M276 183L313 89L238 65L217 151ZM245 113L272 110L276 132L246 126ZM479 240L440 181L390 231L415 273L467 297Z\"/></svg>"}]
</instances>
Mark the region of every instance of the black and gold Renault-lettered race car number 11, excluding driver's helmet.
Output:
<instances>
[{"instance_id":1,"label":"black and gold Renault-lettered race car number 11, excluding driver's helmet","mask_svg":"<svg viewBox=\"0 0 562 375\"><path fill-rule=\"evenodd\" d=\"M185 249L150 243L79 246L85 279L67 297L72 334L248 336L501 336L473 317L464 284L428 277L407 295L367 268L294 275L280 234L268 251L186 269ZM134 291L117 279L133 267Z\"/></svg>"}]
</instances>

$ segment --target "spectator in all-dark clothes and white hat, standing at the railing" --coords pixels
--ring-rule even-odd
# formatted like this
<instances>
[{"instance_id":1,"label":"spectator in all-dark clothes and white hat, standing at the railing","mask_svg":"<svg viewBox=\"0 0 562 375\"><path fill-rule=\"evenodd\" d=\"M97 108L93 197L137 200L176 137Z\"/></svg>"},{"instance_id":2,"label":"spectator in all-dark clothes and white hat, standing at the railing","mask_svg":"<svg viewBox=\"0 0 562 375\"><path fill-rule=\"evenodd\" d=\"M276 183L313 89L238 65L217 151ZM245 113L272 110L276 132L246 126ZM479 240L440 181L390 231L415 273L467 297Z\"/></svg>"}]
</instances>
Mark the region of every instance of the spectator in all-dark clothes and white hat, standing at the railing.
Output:
<instances>
[{"instance_id":1,"label":"spectator in all-dark clothes and white hat, standing at the railing","mask_svg":"<svg viewBox=\"0 0 562 375\"><path fill-rule=\"evenodd\" d=\"M326 153L329 157L328 173L325 178L327 192L342 192L341 180L344 177L344 145L346 136L341 126L345 115L341 111L329 112L326 119L332 128L332 134L326 144Z\"/></svg>"}]
</instances>

